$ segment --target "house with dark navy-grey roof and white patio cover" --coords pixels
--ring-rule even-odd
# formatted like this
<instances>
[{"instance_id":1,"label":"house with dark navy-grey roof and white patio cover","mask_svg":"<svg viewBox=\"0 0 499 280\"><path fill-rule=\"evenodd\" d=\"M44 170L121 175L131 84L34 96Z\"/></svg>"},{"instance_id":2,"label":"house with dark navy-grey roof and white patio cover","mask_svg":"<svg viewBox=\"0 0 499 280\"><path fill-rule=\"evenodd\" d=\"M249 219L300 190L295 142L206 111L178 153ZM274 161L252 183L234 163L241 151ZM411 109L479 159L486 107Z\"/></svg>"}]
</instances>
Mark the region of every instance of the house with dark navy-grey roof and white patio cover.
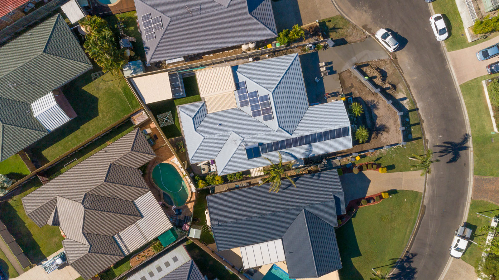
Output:
<instances>
[{"instance_id":1,"label":"house with dark navy-grey roof and white patio cover","mask_svg":"<svg viewBox=\"0 0 499 280\"><path fill-rule=\"evenodd\" d=\"M341 269L334 227L345 200L338 172L292 180L296 188L283 180L277 193L267 183L207 196L217 250L240 248L245 269L286 266L292 279Z\"/></svg>"}]
</instances>

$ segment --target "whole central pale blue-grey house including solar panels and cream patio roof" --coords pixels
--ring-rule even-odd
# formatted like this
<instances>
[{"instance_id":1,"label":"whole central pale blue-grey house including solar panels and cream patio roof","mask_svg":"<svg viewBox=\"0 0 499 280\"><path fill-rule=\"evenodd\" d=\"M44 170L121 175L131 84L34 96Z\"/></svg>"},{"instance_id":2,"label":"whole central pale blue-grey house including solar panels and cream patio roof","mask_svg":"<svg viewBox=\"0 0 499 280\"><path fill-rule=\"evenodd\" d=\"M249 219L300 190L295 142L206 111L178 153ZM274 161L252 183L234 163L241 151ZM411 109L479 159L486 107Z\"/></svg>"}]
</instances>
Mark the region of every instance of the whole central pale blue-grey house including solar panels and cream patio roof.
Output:
<instances>
[{"instance_id":1,"label":"whole central pale blue-grey house including solar panels and cream patio roof","mask_svg":"<svg viewBox=\"0 0 499 280\"><path fill-rule=\"evenodd\" d=\"M203 101L178 106L191 164L219 175L352 147L341 101L309 106L298 54L196 73ZM255 172L256 172L255 171Z\"/></svg>"}]
</instances>

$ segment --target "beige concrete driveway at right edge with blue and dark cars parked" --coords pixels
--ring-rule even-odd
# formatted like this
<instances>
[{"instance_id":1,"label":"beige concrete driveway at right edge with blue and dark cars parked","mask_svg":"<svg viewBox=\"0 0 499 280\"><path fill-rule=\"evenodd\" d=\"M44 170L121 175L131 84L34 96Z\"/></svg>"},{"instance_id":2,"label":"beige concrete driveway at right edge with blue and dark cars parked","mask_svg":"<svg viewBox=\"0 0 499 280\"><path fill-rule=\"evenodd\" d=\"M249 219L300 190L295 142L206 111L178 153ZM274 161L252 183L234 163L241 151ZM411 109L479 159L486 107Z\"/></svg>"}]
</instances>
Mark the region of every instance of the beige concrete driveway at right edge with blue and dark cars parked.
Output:
<instances>
[{"instance_id":1,"label":"beige concrete driveway at right edge with blue and dark cars parked","mask_svg":"<svg viewBox=\"0 0 499 280\"><path fill-rule=\"evenodd\" d=\"M488 60L479 61L477 52L499 42L499 37L492 38L478 45L467 47L465 49L449 52L452 68L456 73L458 83L461 85L469 80L487 75L487 65L499 60L499 56Z\"/></svg>"}]
</instances>

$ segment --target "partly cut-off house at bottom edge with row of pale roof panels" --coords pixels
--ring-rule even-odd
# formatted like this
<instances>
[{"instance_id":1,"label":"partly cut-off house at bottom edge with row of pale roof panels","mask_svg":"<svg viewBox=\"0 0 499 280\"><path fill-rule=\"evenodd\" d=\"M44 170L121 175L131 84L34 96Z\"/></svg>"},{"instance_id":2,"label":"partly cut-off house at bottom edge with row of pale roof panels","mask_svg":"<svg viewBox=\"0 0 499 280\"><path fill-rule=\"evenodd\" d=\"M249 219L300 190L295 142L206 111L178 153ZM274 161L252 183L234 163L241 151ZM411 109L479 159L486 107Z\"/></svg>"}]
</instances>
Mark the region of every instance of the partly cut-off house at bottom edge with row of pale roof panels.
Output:
<instances>
[{"instance_id":1,"label":"partly cut-off house at bottom edge with row of pale roof panels","mask_svg":"<svg viewBox=\"0 0 499 280\"><path fill-rule=\"evenodd\" d=\"M166 253L154 256L154 261L133 272L128 280L205 280L198 266L183 245Z\"/></svg>"}]
</instances>

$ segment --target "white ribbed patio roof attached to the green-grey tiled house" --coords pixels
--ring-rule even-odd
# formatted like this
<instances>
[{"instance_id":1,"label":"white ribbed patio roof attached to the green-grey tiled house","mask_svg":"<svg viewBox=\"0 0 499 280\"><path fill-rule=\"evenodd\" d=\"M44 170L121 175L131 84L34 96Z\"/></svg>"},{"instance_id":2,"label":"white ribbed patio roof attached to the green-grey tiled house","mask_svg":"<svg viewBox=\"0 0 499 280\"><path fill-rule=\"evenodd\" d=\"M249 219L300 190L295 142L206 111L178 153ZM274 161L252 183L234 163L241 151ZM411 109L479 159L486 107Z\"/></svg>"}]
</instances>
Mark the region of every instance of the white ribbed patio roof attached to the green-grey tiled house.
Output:
<instances>
[{"instance_id":1,"label":"white ribbed patio roof attached to the green-grey tiled house","mask_svg":"<svg viewBox=\"0 0 499 280\"><path fill-rule=\"evenodd\" d=\"M48 132L55 130L70 120L57 102L55 102L52 92L45 94L31 103L31 112L33 113L33 117L35 117Z\"/></svg>"}]
</instances>

